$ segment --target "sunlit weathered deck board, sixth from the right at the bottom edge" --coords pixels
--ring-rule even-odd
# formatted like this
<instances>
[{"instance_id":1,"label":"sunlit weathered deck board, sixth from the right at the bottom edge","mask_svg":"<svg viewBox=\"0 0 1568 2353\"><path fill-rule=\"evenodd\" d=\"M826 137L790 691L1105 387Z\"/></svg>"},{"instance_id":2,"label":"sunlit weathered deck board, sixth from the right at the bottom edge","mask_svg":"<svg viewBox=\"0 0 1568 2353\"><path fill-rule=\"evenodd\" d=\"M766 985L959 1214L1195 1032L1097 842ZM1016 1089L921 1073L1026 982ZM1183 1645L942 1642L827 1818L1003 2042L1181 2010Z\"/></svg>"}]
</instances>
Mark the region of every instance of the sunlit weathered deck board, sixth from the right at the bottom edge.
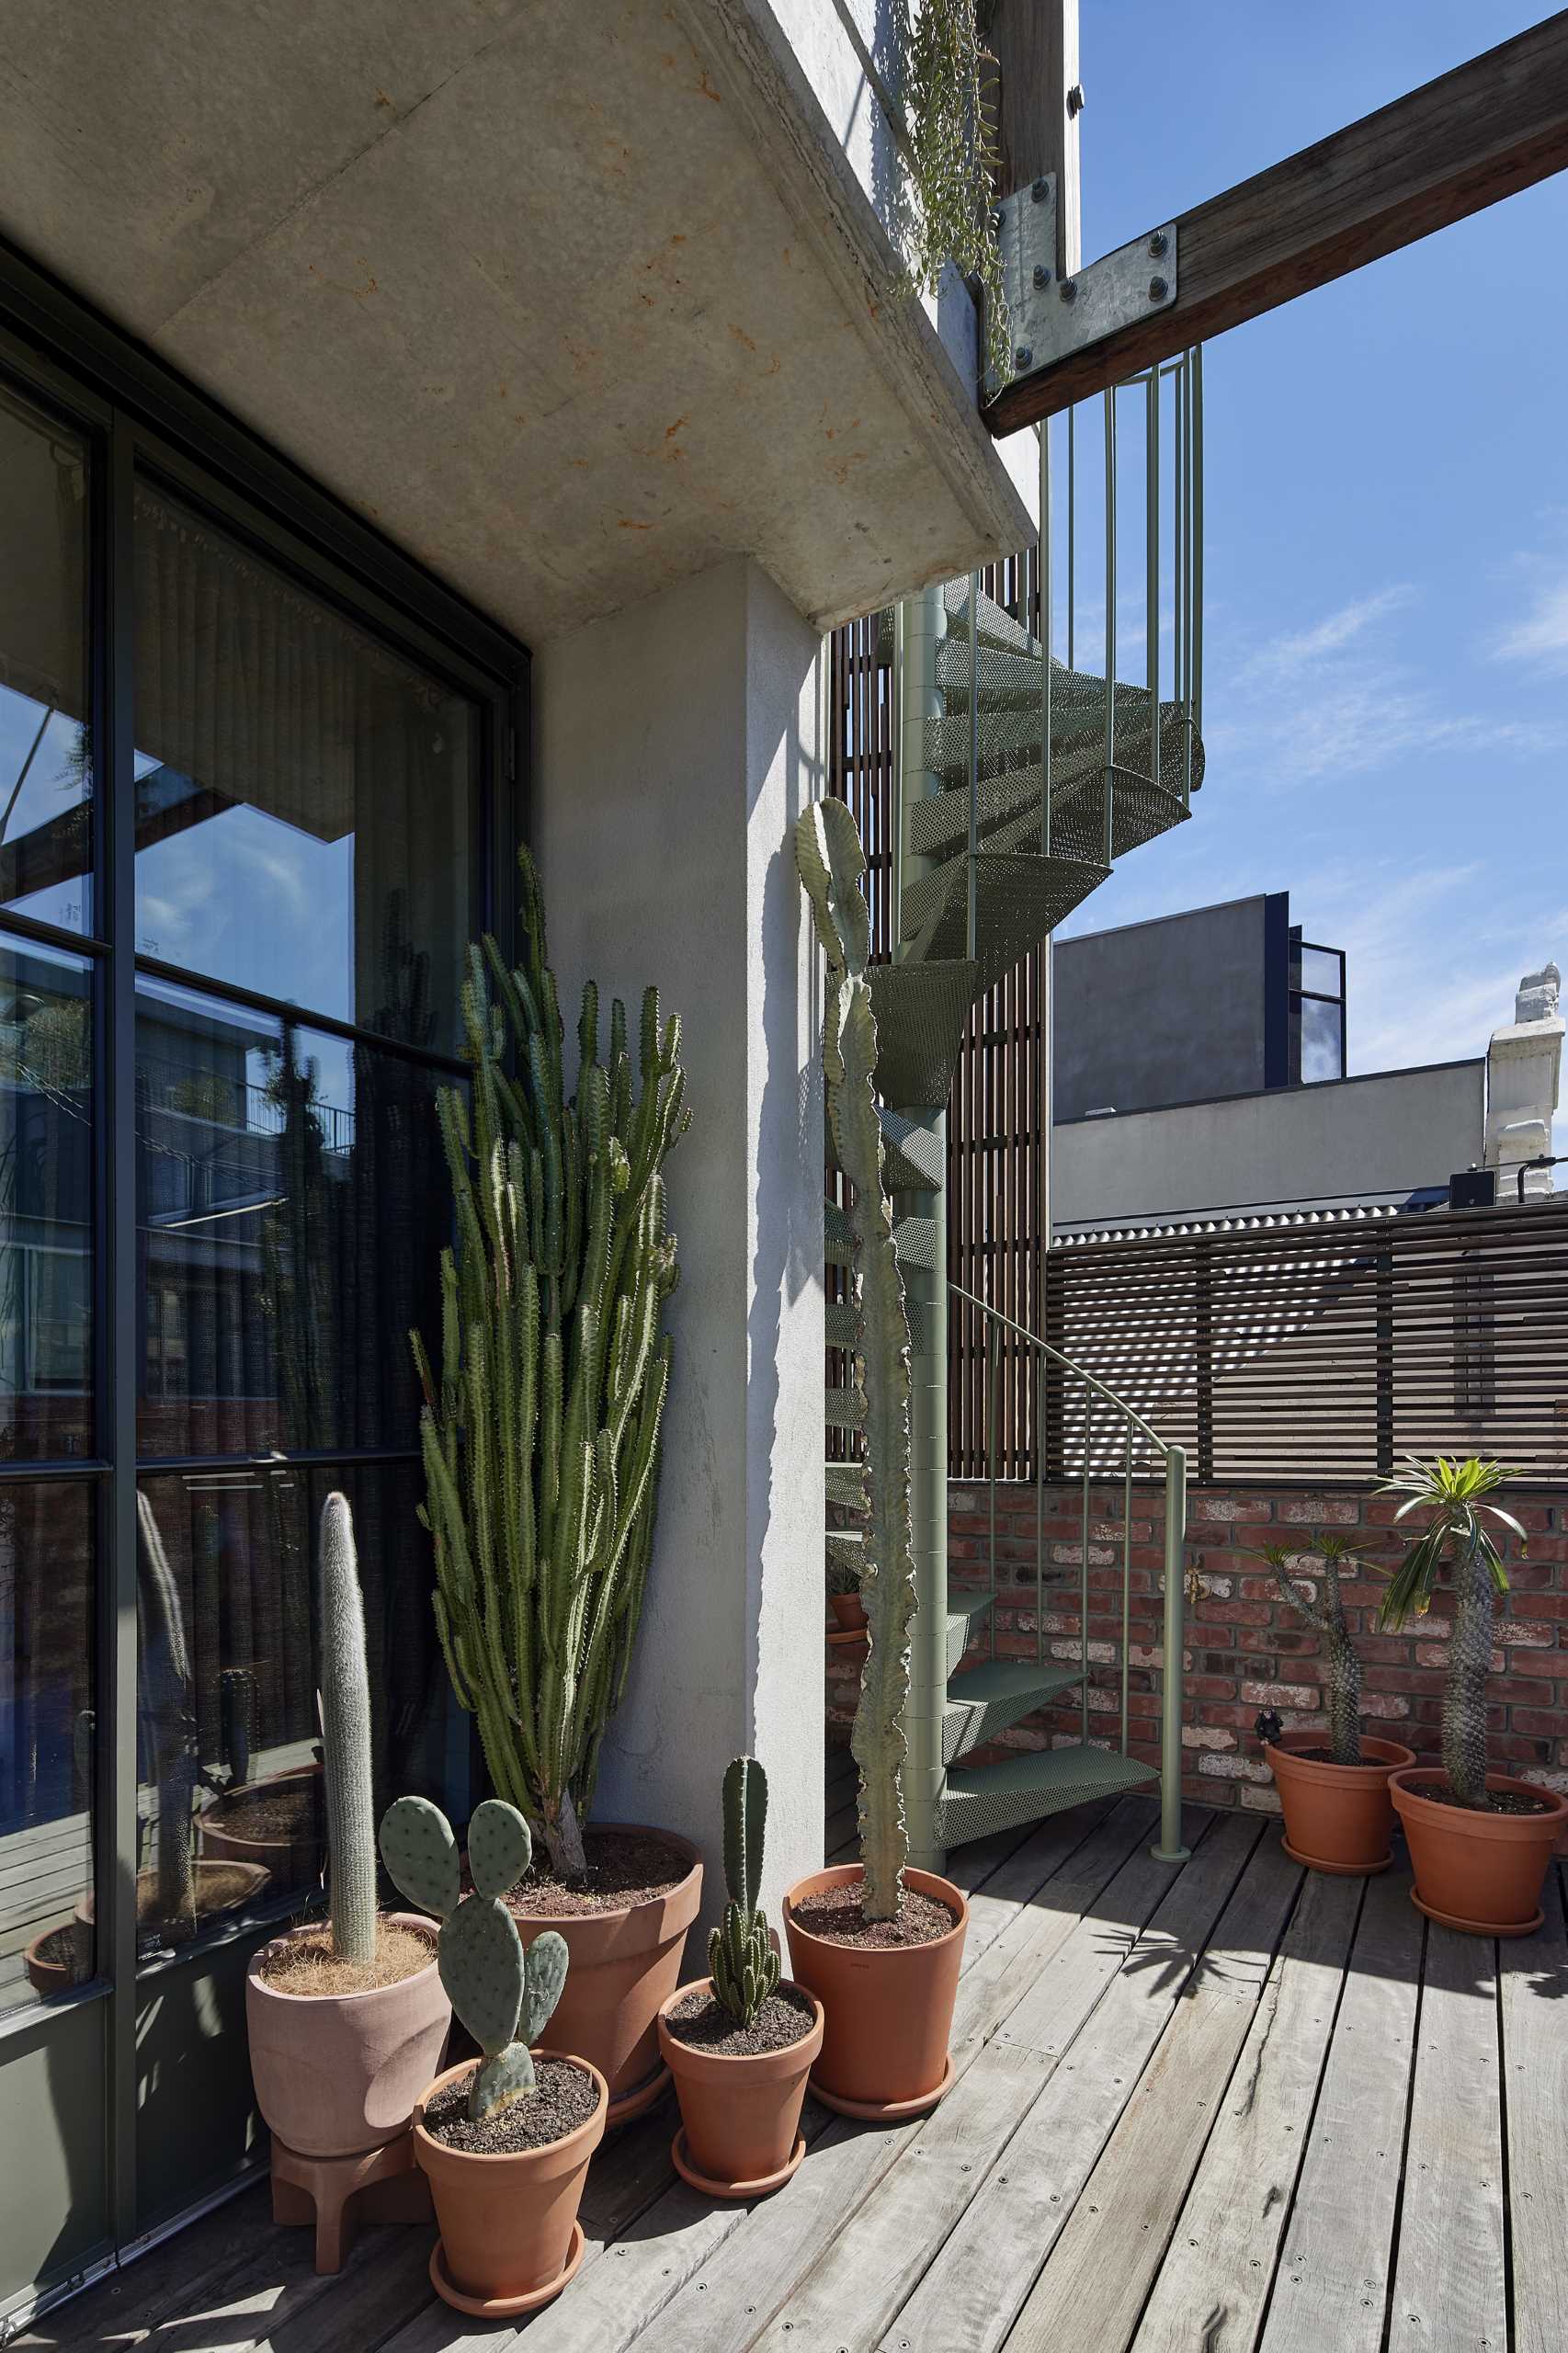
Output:
<instances>
[{"instance_id":1,"label":"sunlit weathered deck board, sixth from the right at the bottom edge","mask_svg":"<svg viewBox=\"0 0 1568 2353\"><path fill-rule=\"evenodd\" d=\"M965 2184L963 2219L883 2337L890 2353L994 2353L1005 2341L1260 1828L1234 1814L1180 1873L1156 1866L1168 1871L1168 1892L1149 1929L1128 1944L1097 1925L1099 1953L1064 1948L1057 1962L1067 1967L1045 1969L1008 2019L982 2066L1022 2087L1017 2129L998 2146L996 2169ZM1099 1958L1111 1969L1085 2012L1064 1998L1064 1979L1092 1986Z\"/></svg>"}]
</instances>

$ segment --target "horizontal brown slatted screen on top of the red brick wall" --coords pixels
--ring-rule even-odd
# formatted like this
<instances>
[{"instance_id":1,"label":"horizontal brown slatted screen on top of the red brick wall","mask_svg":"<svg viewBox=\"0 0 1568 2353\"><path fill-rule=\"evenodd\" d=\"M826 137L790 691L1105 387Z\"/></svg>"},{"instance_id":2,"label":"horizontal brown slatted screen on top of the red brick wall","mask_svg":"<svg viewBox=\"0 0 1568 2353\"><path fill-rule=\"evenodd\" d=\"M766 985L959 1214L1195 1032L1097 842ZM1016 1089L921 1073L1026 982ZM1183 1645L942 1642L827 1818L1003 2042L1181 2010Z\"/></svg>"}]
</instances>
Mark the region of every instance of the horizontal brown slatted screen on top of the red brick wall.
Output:
<instances>
[{"instance_id":1,"label":"horizontal brown slatted screen on top of the red brick wall","mask_svg":"<svg viewBox=\"0 0 1568 2353\"><path fill-rule=\"evenodd\" d=\"M1045 1337L1201 1482L1366 1482L1443 1452L1568 1485L1568 1202L1074 1242L1045 1306ZM1081 1466L1057 1388L1045 1473Z\"/></svg>"}]
</instances>

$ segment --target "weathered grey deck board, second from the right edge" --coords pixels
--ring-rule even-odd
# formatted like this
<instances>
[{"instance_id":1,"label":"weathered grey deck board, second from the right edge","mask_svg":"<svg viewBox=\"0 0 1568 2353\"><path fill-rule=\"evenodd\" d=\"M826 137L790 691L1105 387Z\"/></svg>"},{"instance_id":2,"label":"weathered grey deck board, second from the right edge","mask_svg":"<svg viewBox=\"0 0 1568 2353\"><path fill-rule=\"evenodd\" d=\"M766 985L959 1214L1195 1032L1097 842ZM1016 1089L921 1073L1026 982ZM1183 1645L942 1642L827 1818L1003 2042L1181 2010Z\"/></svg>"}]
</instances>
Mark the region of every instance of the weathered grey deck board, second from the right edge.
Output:
<instances>
[{"instance_id":1,"label":"weathered grey deck board, second from the right edge","mask_svg":"<svg viewBox=\"0 0 1568 2353\"><path fill-rule=\"evenodd\" d=\"M1481 2353L1507 2334L1497 1946L1431 1925L1389 2353L1439 2344Z\"/></svg>"}]
</instances>

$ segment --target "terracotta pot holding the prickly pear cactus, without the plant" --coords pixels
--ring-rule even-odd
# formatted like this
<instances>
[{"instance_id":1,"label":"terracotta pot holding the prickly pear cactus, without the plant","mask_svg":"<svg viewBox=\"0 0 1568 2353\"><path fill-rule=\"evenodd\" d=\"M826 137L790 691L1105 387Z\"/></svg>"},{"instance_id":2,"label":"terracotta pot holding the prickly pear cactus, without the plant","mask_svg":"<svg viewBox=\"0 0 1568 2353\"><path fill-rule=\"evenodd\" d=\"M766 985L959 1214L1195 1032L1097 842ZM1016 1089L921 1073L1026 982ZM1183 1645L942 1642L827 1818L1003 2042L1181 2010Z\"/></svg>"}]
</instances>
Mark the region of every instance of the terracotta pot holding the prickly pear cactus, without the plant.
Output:
<instances>
[{"instance_id":1,"label":"terracotta pot holding the prickly pear cactus, without the plant","mask_svg":"<svg viewBox=\"0 0 1568 2353\"><path fill-rule=\"evenodd\" d=\"M447 2148L424 2129L424 2111L436 2094L473 2061L447 2068L426 2085L414 2108L414 2162L431 2184L440 2245L431 2257L431 2280L459 2311L504 2318L549 2301L565 2287L567 2266L582 2257L577 2207L589 2158L605 2137L610 2089L586 2059L537 2049L534 2059L572 2059L593 2078L593 2115L544 2148L516 2155L473 2155Z\"/></svg>"}]
</instances>

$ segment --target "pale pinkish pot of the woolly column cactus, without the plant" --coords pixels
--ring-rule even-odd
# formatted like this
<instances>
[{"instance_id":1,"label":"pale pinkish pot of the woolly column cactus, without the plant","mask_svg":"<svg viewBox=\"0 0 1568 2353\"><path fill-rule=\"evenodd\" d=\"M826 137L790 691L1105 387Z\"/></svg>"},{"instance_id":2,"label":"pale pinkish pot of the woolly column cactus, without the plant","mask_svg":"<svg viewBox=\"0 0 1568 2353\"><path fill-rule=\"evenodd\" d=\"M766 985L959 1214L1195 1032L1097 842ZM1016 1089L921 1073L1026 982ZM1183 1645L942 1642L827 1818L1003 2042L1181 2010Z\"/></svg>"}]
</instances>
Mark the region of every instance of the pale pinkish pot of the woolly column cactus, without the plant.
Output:
<instances>
[{"instance_id":1,"label":"pale pinkish pot of the woolly column cactus, without the plant","mask_svg":"<svg viewBox=\"0 0 1568 2353\"><path fill-rule=\"evenodd\" d=\"M294 1937L275 1937L245 1972L245 2024L257 2106L301 2158L348 2158L407 2132L419 2092L447 2042L452 2005L436 1974L436 1922L391 1913L431 1946L428 1969L370 1993L275 1993L261 1962Z\"/></svg>"}]
</instances>

